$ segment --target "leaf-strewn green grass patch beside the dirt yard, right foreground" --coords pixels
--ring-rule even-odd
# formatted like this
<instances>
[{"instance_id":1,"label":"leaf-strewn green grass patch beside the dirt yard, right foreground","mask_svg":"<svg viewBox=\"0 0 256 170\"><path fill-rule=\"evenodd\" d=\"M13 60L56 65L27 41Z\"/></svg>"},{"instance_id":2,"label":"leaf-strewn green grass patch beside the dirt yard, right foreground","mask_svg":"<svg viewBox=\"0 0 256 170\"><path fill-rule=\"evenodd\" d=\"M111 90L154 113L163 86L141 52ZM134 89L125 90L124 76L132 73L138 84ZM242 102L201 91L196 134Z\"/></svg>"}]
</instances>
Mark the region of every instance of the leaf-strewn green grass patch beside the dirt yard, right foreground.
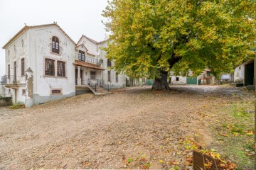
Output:
<instances>
[{"instance_id":1,"label":"leaf-strewn green grass patch beside the dirt yard, right foreground","mask_svg":"<svg viewBox=\"0 0 256 170\"><path fill-rule=\"evenodd\" d=\"M220 107L216 119L221 121L213 125L217 149L235 162L237 169L253 169L255 164L254 113L246 113L248 109L254 109L254 102L235 101Z\"/></svg>"}]
</instances>

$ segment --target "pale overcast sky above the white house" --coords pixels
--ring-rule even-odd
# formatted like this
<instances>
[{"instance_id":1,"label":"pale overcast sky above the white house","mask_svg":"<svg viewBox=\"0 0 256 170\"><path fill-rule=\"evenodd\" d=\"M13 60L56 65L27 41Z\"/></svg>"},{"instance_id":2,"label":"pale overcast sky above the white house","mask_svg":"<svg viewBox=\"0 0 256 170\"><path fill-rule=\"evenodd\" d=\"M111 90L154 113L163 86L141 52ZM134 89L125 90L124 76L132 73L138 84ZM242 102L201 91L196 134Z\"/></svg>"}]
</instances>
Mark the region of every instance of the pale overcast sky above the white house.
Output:
<instances>
[{"instance_id":1,"label":"pale overcast sky above the white house","mask_svg":"<svg viewBox=\"0 0 256 170\"><path fill-rule=\"evenodd\" d=\"M75 42L82 34L97 41L105 40L107 33L101 14L106 6L107 0L0 0L0 46L21 30L24 23L33 26L53 21ZM0 76L4 74L5 50L1 48Z\"/></svg>"}]
</instances>

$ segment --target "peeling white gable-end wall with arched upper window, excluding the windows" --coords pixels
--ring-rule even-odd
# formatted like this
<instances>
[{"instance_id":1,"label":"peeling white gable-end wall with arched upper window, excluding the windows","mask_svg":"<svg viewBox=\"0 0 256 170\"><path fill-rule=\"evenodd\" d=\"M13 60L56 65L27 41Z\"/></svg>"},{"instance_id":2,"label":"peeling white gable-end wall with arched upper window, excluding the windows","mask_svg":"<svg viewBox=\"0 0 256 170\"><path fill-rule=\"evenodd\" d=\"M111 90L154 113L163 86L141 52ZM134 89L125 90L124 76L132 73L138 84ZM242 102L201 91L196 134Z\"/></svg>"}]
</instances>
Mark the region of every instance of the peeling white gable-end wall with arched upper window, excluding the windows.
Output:
<instances>
[{"instance_id":1,"label":"peeling white gable-end wall with arched upper window, excluding the windows","mask_svg":"<svg viewBox=\"0 0 256 170\"><path fill-rule=\"evenodd\" d=\"M50 52L52 37L59 39L60 55ZM33 71L33 100L34 104L75 96L75 45L58 28L41 28L29 30L29 56ZM45 59L65 62L65 77L45 75ZM55 62L57 67L57 62ZM52 89L61 89L62 94L51 94Z\"/></svg>"}]
</instances>

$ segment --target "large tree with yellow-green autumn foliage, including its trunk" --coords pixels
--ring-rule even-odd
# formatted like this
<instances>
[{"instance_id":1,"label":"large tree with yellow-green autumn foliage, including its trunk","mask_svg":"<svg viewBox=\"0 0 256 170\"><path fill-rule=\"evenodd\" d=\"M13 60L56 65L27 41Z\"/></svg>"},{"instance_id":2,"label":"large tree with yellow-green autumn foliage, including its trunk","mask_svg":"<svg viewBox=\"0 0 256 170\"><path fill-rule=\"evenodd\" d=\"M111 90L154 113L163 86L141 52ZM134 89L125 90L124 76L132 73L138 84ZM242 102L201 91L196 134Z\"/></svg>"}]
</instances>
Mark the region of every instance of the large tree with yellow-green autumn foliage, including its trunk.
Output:
<instances>
[{"instance_id":1,"label":"large tree with yellow-green autumn foliage, including its trunk","mask_svg":"<svg viewBox=\"0 0 256 170\"><path fill-rule=\"evenodd\" d=\"M170 69L230 72L255 45L255 0L112 0L103 16L114 69L152 89L169 89Z\"/></svg>"}]
</instances>

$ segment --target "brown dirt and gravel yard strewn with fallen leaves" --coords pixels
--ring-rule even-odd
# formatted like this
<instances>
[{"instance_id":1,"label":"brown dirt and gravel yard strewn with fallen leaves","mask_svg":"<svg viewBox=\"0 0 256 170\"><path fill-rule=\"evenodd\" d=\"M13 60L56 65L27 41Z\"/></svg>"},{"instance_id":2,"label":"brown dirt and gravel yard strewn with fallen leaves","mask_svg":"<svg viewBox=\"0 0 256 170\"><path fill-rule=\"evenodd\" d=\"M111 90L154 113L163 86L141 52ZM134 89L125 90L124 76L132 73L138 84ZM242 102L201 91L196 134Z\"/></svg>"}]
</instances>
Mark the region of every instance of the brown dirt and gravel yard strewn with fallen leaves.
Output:
<instances>
[{"instance_id":1,"label":"brown dirt and gravel yard strewn with fallen leaves","mask_svg":"<svg viewBox=\"0 0 256 170\"><path fill-rule=\"evenodd\" d=\"M83 94L32 108L0 108L0 169L182 168L181 139L215 146L202 112L254 101L230 86L140 87ZM127 163L128 162L128 163Z\"/></svg>"}]
</instances>

